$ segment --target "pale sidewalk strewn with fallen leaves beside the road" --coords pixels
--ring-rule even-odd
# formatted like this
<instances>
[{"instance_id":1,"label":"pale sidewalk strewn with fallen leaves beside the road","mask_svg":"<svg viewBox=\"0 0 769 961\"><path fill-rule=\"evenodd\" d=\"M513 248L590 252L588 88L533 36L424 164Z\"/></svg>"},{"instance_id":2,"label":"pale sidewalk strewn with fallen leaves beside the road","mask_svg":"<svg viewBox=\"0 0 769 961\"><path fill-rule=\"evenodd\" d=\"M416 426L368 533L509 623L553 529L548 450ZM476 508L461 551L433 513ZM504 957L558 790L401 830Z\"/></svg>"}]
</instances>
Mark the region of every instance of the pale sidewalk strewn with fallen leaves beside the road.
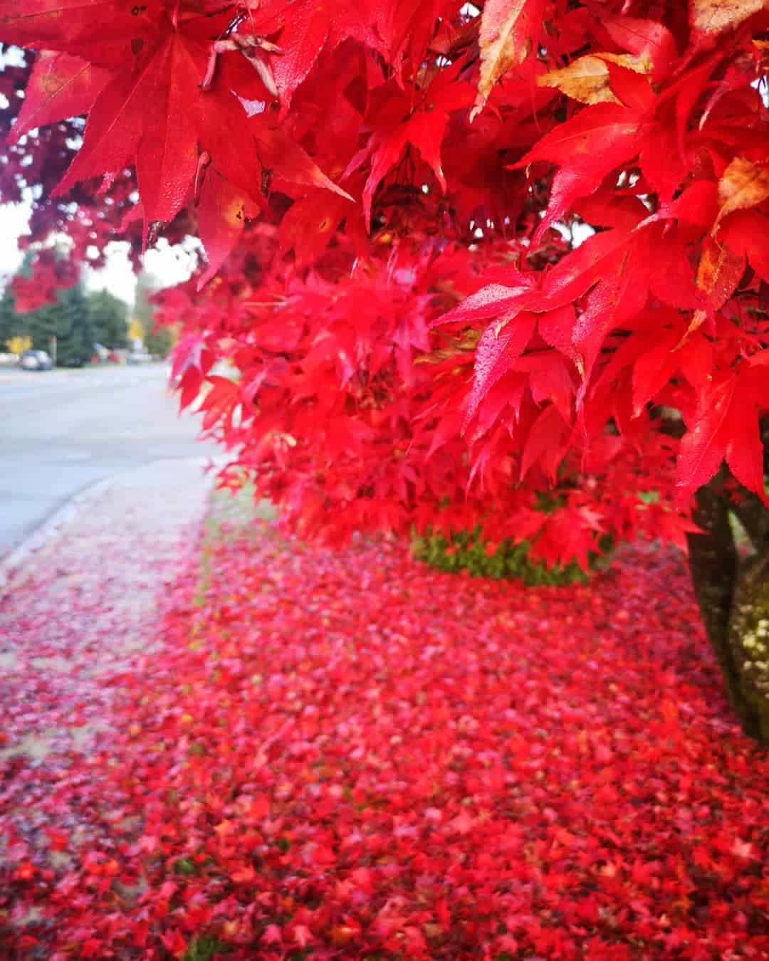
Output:
<instances>
[{"instance_id":1,"label":"pale sidewalk strewn with fallen leaves beside the road","mask_svg":"<svg viewBox=\"0 0 769 961\"><path fill-rule=\"evenodd\" d=\"M0 579L0 765L103 736L113 683L151 650L164 586L195 542L205 463L160 460L102 481L14 554L20 566Z\"/></svg>"}]
</instances>

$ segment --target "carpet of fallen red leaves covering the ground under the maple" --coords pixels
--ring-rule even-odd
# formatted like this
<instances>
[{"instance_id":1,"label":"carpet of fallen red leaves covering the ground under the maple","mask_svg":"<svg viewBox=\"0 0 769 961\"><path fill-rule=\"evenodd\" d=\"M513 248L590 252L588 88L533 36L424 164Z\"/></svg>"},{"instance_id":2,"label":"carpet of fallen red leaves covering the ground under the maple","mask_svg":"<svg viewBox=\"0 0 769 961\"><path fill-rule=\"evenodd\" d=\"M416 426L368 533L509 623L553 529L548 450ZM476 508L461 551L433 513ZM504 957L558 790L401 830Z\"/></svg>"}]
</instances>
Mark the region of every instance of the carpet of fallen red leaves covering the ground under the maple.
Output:
<instances>
[{"instance_id":1,"label":"carpet of fallen red leaves covering the ground under the maple","mask_svg":"<svg viewBox=\"0 0 769 961\"><path fill-rule=\"evenodd\" d=\"M0 764L3 957L769 956L769 758L679 554L534 589L265 524L206 569L112 734Z\"/></svg>"}]
</instances>

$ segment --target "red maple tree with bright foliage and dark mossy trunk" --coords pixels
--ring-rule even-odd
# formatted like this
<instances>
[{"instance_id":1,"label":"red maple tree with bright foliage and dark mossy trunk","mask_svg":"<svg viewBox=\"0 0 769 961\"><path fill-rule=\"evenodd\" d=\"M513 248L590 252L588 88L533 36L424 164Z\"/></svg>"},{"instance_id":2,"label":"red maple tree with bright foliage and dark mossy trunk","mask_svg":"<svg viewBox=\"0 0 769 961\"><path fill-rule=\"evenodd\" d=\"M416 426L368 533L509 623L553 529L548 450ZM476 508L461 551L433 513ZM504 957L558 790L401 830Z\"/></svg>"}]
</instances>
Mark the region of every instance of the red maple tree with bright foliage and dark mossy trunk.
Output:
<instances>
[{"instance_id":1,"label":"red maple tree with bright foliage and dark mossy trunk","mask_svg":"<svg viewBox=\"0 0 769 961\"><path fill-rule=\"evenodd\" d=\"M73 259L200 236L182 403L286 526L687 544L767 740L766 7L0 0L0 188Z\"/></svg>"}]
</instances>

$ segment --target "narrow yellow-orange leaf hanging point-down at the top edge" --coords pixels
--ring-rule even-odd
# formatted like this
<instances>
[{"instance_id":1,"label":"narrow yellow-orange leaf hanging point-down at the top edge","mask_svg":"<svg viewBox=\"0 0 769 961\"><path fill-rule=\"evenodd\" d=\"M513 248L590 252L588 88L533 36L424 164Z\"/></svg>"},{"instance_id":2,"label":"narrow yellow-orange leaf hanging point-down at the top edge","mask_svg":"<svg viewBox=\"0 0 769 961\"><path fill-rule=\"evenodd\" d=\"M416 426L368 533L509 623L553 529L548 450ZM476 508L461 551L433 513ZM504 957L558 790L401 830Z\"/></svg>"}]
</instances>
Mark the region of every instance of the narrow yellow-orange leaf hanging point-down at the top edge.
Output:
<instances>
[{"instance_id":1,"label":"narrow yellow-orange leaf hanging point-down at the top edge","mask_svg":"<svg viewBox=\"0 0 769 961\"><path fill-rule=\"evenodd\" d=\"M481 17L481 77L470 122L484 109L491 88L513 66L523 63L532 49L528 0L488 0Z\"/></svg>"}]
</instances>

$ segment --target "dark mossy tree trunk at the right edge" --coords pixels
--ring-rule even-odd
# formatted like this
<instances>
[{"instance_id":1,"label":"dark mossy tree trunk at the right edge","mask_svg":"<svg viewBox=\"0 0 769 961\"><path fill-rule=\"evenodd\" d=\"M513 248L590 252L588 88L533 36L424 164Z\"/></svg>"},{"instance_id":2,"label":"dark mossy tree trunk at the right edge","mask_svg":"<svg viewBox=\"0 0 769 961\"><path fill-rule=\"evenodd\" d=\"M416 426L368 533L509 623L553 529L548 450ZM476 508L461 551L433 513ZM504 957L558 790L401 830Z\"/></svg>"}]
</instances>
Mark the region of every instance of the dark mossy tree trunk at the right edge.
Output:
<instances>
[{"instance_id":1,"label":"dark mossy tree trunk at the right edge","mask_svg":"<svg viewBox=\"0 0 769 961\"><path fill-rule=\"evenodd\" d=\"M697 492L693 519L707 530L688 537L707 637L743 730L769 745L769 544L755 537L757 554L741 562L727 502L710 487Z\"/></svg>"}]
</instances>

